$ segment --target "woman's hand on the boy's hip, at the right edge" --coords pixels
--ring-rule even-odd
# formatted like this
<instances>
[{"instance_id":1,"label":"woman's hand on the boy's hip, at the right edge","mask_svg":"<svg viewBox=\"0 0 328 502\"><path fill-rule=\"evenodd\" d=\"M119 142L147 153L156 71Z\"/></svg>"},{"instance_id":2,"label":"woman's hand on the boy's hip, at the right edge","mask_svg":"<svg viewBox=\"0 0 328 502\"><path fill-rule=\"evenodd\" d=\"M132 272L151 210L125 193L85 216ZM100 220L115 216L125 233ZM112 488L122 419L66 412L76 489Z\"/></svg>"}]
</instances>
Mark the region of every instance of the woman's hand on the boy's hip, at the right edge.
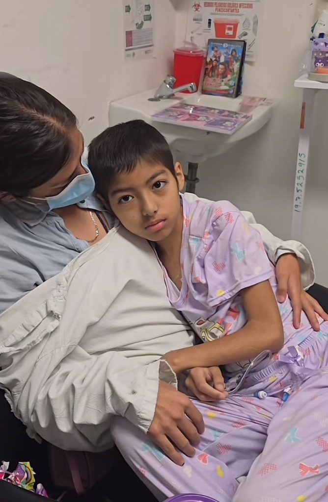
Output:
<instances>
[{"instance_id":1,"label":"woman's hand on the boy's hip, at the right edge","mask_svg":"<svg viewBox=\"0 0 328 502\"><path fill-rule=\"evenodd\" d=\"M300 327L301 312L305 312L312 328L319 331L317 314L323 320L328 321L328 315L320 307L318 302L303 290L299 263L296 255L282 255L276 265L276 277L278 281L277 300L283 303L288 295L293 307L293 325L295 329Z\"/></svg>"}]
</instances>

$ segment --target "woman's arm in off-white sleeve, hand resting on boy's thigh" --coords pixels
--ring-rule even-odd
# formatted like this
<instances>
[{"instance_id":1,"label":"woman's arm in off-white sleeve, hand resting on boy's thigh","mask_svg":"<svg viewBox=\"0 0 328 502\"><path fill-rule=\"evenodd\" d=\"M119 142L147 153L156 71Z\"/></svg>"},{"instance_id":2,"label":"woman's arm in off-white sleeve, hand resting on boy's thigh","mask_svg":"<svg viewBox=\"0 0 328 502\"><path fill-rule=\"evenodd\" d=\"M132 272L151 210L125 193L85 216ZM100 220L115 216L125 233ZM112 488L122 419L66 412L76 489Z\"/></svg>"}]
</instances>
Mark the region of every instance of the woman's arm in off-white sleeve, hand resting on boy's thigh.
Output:
<instances>
[{"instance_id":1,"label":"woman's arm in off-white sleeve, hand resting on boy's thigh","mask_svg":"<svg viewBox=\"0 0 328 502\"><path fill-rule=\"evenodd\" d=\"M0 316L1 387L29 433L60 448L110 448L110 423L113 416L121 415L148 432L174 462L183 463L179 451L194 454L190 443L200 441L198 434L204 431L202 416L176 390L176 375L169 364L157 360L141 365L137 347L135 357L125 357L119 339L117 344L107 342L116 334L115 316L121 319L114 305L121 303L117 298L122 298L121 284L125 283L115 281L112 272L106 276L104 270L109 267L104 255L98 261L93 259L95 255L95 248L80 255L61 274L35 288ZM106 255L109 264L118 270L113 254ZM97 270L101 273L97 274ZM91 276L98 277L98 282L90 281ZM120 271L118 276L122 277ZM108 277L112 279L110 285ZM120 326L133 338L133 313L129 316L123 308L123 314L126 319ZM145 315L149 320L147 312Z\"/></svg>"}]
</instances>

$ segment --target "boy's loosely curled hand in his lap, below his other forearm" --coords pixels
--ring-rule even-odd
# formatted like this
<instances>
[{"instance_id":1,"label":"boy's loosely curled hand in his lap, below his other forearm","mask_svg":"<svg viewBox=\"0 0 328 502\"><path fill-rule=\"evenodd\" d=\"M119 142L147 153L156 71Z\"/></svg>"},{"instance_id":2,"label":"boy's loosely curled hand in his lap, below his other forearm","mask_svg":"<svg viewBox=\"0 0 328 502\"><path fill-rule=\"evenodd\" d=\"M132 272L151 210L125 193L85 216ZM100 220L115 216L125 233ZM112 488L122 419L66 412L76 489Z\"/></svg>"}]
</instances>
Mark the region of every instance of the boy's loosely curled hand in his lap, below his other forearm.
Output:
<instances>
[{"instance_id":1,"label":"boy's loosely curled hand in his lap, below his other forearm","mask_svg":"<svg viewBox=\"0 0 328 502\"><path fill-rule=\"evenodd\" d=\"M186 379L186 386L200 401L222 401L228 397L218 366L191 369Z\"/></svg>"}]
</instances>

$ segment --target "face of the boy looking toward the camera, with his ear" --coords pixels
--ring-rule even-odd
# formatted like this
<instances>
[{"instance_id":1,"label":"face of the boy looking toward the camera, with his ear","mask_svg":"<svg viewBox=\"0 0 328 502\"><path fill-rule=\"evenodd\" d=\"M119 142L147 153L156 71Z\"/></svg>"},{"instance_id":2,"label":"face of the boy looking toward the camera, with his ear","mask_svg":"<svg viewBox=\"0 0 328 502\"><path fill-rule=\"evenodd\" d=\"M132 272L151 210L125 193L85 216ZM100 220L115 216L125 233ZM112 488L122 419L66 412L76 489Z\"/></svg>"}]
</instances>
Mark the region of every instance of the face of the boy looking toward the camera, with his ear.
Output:
<instances>
[{"instance_id":1,"label":"face of the boy looking toward the camera, with his ear","mask_svg":"<svg viewBox=\"0 0 328 502\"><path fill-rule=\"evenodd\" d=\"M178 183L165 166L141 161L131 173L115 177L109 203L127 230L154 242L173 232L182 214L179 191L185 184L181 164L175 172Z\"/></svg>"}]
</instances>

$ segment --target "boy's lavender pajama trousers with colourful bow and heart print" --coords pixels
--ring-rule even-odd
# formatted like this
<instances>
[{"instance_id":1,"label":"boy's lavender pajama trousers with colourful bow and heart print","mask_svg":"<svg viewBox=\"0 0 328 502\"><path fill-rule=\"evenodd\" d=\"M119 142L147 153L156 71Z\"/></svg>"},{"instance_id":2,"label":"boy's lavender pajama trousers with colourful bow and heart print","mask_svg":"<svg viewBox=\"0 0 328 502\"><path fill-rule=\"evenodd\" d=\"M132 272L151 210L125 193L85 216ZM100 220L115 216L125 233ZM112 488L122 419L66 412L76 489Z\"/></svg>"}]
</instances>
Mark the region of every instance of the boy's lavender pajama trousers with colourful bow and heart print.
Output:
<instances>
[{"instance_id":1,"label":"boy's lavender pajama trousers with colourful bow and heart print","mask_svg":"<svg viewBox=\"0 0 328 502\"><path fill-rule=\"evenodd\" d=\"M328 502L327 323L298 347L312 371L298 374L293 364L275 361L251 373L237 396L193 401L206 430L183 467L126 419L115 419L116 445L158 500L200 493L219 502ZM277 391L288 386L284 402ZM259 390L268 397L255 397Z\"/></svg>"}]
</instances>

